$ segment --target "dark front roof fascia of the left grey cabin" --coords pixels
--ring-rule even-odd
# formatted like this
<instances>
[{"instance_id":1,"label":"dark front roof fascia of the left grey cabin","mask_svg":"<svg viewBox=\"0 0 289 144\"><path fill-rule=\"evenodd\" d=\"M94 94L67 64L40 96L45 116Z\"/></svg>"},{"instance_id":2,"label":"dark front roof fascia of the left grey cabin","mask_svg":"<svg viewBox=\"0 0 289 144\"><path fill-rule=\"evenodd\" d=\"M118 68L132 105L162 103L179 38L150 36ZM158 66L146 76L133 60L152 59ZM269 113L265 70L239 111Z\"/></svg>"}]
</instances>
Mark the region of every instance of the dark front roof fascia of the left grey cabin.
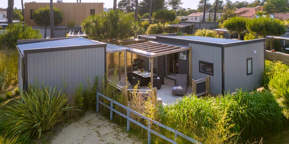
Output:
<instances>
[{"instance_id":1,"label":"dark front roof fascia of the left grey cabin","mask_svg":"<svg viewBox=\"0 0 289 144\"><path fill-rule=\"evenodd\" d=\"M106 43L97 43L90 45L79 45L79 46L64 46L64 47L53 47L53 48L35 48L35 49L27 49L23 50L23 53L32 54L32 53L40 53L40 52L55 52L55 51L63 51L63 50L80 50L87 48L106 48Z\"/></svg>"}]
</instances>

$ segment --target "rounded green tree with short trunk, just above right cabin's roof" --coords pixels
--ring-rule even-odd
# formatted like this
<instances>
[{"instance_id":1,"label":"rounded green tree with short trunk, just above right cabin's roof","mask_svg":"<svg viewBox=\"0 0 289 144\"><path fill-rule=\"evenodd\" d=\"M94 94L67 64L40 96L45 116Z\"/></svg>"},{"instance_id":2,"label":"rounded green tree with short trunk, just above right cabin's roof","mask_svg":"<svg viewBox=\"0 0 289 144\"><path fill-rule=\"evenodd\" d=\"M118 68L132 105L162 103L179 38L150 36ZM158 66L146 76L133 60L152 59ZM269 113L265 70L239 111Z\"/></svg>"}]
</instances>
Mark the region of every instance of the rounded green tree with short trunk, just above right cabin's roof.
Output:
<instances>
[{"instance_id":1,"label":"rounded green tree with short trunk, just above right cabin's roof","mask_svg":"<svg viewBox=\"0 0 289 144\"><path fill-rule=\"evenodd\" d=\"M233 17L226 20L223 26L228 30L229 33L238 33L238 39L240 40L240 35L247 31L246 22L247 18L244 17Z\"/></svg>"}]
</instances>

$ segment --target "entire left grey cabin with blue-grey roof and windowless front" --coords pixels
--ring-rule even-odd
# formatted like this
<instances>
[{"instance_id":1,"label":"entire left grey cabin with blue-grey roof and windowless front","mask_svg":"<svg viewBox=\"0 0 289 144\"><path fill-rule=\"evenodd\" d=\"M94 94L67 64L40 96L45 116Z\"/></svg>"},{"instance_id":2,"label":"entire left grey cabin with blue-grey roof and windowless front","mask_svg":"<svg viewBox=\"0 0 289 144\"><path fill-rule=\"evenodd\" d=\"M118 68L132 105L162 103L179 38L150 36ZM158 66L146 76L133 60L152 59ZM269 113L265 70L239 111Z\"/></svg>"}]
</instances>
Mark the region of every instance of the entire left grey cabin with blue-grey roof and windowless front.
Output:
<instances>
[{"instance_id":1,"label":"entire left grey cabin with blue-grey roof and windowless front","mask_svg":"<svg viewBox=\"0 0 289 144\"><path fill-rule=\"evenodd\" d=\"M82 37L18 40L17 48L21 90L43 83L74 92L80 83L88 88L95 77L101 84L106 71L106 43L99 41Z\"/></svg>"}]
</instances>

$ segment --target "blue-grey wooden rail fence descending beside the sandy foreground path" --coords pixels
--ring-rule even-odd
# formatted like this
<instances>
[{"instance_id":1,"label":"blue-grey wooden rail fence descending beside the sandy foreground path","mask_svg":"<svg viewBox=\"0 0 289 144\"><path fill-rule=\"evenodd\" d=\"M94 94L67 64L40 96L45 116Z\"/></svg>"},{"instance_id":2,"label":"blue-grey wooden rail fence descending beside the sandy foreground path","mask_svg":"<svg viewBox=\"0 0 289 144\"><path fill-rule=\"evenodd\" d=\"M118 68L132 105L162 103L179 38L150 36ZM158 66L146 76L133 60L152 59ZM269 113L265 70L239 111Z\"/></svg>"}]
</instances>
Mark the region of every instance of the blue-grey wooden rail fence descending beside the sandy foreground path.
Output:
<instances>
[{"instance_id":1,"label":"blue-grey wooden rail fence descending beside the sandy foreground path","mask_svg":"<svg viewBox=\"0 0 289 144\"><path fill-rule=\"evenodd\" d=\"M101 105L107 107L108 109L110 109L110 120L112 120L112 118L113 118L113 112L115 112L115 113L117 113L117 114L119 114L119 115L121 115L122 117L124 117L124 118L127 119L127 131L129 131L130 122L133 122L133 123L137 124L138 126L144 128L145 130L148 131L148 132L147 132L147 134L148 134L148 137L147 137L147 138L148 138L148 144L151 143L151 133L155 134L155 135L158 136L158 137L161 137L162 139L164 139L164 140L166 140L166 141L169 141L169 142L171 142L171 143L174 143L174 144L177 144L177 141L176 141L176 140L177 140L177 137L178 137L178 136L181 136L181 137L187 139L188 141L190 141L190 142L192 142L192 143L201 144L201 143L199 143L198 141L196 141L196 140L194 140L194 139L186 136L185 134L179 132L178 130L175 130L175 129L170 128L170 127L168 127L168 126L166 126L166 125L164 125L164 124L161 124L161 123L159 123L159 122L157 122L157 121L155 121L155 120L152 120L152 119L150 119L150 118L148 118L148 117L146 117L146 116L144 116L144 115L142 115L142 114L140 114L140 113L138 113L138 112L130 109L129 107L126 107L126 106L124 106L124 105L122 105L122 104L120 104L120 103L112 100L111 98L108 98L107 96L104 96L103 94L101 94L101 93L99 93L99 92L97 92L97 96L96 96L96 97L97 97L97 100L96 100L96 111L97 111L97 112L99 112L99 104L101 104ZM104 102L100 101L100 100L99 100L100 97L103 97L103 98L107 99L108 101L110 101L110 106L108 106L108 105L106 105ZM125 114L117 111L116 109L114 109L114 108L113 108L113 105L114 105L114 104L115 104L115 105L118 105L118 106L120 106L120 107L122 107L122 108L124 108L124 109L126 109L126 110L127 110L127 114L125 115ZM133 113L134 115L137 115L137 116L141 117L142 119L146 120L146 121L147 121L147 126L146 126L146 125L143 125L143 124L141 124L140 122L138 122L138 121L134 120L133 118L131 118L130 113ZM174 139L170 139L170 138L168 138L168 137L166 137L166 136L164 136L164 135L156 132L155 130L153 130L153 129L151 128L151 124L155 124L155 125L157 125L157 126L160 126L160 127L162 127L162 128L165 128L166 130L169 130L169 131L175 133L175 138L174 138Z\"/></svg>"}]
</instances>

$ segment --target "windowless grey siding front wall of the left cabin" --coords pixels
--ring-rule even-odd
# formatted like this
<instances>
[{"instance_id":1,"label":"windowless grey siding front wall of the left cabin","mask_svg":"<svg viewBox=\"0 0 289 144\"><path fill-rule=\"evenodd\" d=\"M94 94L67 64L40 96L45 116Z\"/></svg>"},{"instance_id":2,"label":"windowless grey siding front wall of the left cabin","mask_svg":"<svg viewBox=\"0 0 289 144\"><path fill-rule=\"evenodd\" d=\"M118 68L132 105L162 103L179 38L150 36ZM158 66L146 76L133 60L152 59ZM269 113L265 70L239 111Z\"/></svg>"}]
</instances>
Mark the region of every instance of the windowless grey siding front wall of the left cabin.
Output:
<instances>
[{"instance_id":1,"label":"windowless grey siding front wall of the left cabin","mask_svg":"<svg viewBox=\"0 0 289 144\"><path fill-rule=\"evenodd\" d=\"M67 85L65 90L71 93L79 83L88 88L87 78L93 84L98 76L101 84L105 72L104 56L105 48L27 54L28 84L42 86L43 82L59 89Z\"/></svg>"}]
</instances>

